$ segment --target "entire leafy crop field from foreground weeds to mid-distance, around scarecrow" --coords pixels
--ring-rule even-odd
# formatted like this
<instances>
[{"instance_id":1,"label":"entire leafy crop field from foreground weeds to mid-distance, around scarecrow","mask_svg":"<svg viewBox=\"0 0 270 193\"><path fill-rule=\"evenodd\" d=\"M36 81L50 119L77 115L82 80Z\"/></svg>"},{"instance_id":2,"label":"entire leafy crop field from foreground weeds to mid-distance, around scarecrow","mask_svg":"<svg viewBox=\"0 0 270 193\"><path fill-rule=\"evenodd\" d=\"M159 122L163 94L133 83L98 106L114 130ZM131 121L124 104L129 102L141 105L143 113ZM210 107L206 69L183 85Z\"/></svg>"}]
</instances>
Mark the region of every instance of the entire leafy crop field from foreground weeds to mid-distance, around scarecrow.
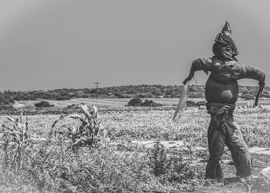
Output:
<instances>
[{"instance_id":1,"label":"entire leafy crop field from foreground weeds to mid-distance, around scarecrow","mask_svg":"<svg viewBox=\"0 0 270 193\"><path fill-rule=\"evenodd\" d=\"M1 128L10 130L9 134L1 132L0 192L142 192L144 189L211 192L212 186L203 186L206 183L205 164L189 165L193 159L207 159L207 151L166 149L160 143L152 149L128 145L132 140L181 140L189 147L207 147L210 117L205 110L186 111L179 122L172 121L173 114L173 111L100 113L99 122L104 129L97 124L102 132L97 135L97 139L100 138L96 148L93 143L92 148L81 146L82 140L70 137L70 125L81 124L78 117L85 117L83 114L67 116L53 128L60 115L28 116L27 124L24 123L26 116L22 116L21 125L19 119L12 119L18 116L3 116ZM236 112L234 117L249 147L270 148L269 113ZM24 128L20 131L24 135L15 134L12 124ZM15 140L15 135L19 140ZM20 142L30 135L33 137ZM120 141L120 145L115 145L115 141ZM252 156L254 164L270 162L268 155ZM188 160L184 161L182 157L188 157ZM229 151L222 159L231 159ZM258 175L260 170L254 168L254 173ZM223 172L226 176L234 176L234 166L223 164ZM240 192L244 190L241 184L233 183L218 187L214 192L226 192L232 187Z\"/></svg>"}]
</instances>

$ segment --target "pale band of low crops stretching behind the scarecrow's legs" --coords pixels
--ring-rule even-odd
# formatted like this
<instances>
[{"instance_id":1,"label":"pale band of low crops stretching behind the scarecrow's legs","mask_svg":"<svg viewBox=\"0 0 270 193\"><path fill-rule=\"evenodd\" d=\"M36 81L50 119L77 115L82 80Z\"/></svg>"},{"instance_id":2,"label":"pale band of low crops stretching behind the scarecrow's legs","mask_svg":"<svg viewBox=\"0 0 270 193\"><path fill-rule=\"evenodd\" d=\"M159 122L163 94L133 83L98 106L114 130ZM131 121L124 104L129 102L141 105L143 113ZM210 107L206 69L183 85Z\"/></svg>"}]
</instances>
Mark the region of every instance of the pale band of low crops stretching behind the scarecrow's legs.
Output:
<instances>
[{"instance_id":1,"label":"pale band of low crops stretching behind the scarecrow's legs","mask_svg":"<svg viewBox=\"0 0 270 193\"><path fill-rule=\"evenodd\" d=\"M205 146L202 136L207 133L210 116L206 111L185 111L178 122L172 121L174 111L155 111L153 113L112 113L100 114L107 137L111 140L187 140ZM15 116L16 117L16 116ZM18 117L18 116L17 116ZM26 116L22 116L23 119ZM29 132L39 137L48 137L52 124L60 115L28 116ZM250 146L268 147L263 135L269 132L269 113L234 113L243 135L252 134ZM1 123L10 124L1 118ZM79 120L65 118L55 128L63 124L79 124ZM65 131L64 129L62 129Z\"/></svg>"}]
</instances>

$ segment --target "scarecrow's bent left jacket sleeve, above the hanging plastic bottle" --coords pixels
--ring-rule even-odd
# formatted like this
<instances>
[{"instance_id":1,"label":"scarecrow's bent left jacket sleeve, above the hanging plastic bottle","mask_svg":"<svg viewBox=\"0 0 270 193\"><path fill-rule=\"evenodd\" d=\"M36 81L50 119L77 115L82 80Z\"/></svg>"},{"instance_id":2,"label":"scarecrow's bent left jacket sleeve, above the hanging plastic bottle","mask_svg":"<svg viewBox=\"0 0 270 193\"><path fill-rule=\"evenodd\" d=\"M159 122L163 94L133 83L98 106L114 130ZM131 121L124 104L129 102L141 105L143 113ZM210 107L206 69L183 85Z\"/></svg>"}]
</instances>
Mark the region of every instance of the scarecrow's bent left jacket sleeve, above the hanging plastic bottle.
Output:
<instances>
[{"instance_id":1,"label":"scarecrow's bent left jacket sleeve, above the hanging plastic bottle","mask_svg":"<svg viewBox=\"0 0 270 193\"><path fill-rule=\"evenodd\" d=\"M189 77L192 78L194 73L199 70L203 70L205 74L208 75L208 71L210 71L212 65L212 61L210 58L198 58L194 60L191 64Z\"/></svg>"}]
</instances>

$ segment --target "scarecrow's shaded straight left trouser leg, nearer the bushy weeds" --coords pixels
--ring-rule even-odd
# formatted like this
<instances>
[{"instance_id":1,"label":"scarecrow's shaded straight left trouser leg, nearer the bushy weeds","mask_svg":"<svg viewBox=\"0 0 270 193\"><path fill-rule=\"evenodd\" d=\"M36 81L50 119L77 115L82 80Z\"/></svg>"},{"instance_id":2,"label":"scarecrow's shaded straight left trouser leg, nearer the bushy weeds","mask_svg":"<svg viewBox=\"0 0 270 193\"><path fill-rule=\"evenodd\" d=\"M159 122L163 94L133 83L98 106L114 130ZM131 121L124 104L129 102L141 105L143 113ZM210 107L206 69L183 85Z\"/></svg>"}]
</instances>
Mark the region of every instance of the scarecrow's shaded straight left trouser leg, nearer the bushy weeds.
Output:
<instances>
[{"instance_id":1,"label":"scarecrow's shaded straight left trouser leg, nearer the bushy weeds","mask_svg":"<svg viewBox=\"0 0 270 193\"><path fill-rule=\"evenodd\" d=\"M208 146L210 157L207 162L205 178L223 178L220 157L223 154L226 136L223 132L224 122L220 117L212 118L208 127Z\"/></svg>"}]
</instances>

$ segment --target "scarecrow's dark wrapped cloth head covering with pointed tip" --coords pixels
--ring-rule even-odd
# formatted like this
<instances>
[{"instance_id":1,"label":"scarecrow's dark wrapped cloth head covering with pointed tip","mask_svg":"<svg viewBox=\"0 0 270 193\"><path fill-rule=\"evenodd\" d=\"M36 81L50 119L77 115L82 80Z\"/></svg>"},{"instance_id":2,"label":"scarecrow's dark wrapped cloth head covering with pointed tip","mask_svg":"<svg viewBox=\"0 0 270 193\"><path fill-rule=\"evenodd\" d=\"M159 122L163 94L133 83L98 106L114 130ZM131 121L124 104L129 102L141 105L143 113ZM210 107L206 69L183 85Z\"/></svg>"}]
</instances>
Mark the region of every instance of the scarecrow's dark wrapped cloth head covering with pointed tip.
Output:
<instances>
[{"instance_id":1,"label":"scarecrow's dark wrapped cloth head covering with pointed tip","mask_svg":"<svg viewBox=\"0 0 270 193\"><path fill-rule=\"evenodd\" d=\"M213 58L237 61L235 56L237 56L238 50L234 44L234 40L231 38L231 28L228 20L226 21L221 33L217 34L212 50L215 54Z\"/></svg>"}]
</instances>

